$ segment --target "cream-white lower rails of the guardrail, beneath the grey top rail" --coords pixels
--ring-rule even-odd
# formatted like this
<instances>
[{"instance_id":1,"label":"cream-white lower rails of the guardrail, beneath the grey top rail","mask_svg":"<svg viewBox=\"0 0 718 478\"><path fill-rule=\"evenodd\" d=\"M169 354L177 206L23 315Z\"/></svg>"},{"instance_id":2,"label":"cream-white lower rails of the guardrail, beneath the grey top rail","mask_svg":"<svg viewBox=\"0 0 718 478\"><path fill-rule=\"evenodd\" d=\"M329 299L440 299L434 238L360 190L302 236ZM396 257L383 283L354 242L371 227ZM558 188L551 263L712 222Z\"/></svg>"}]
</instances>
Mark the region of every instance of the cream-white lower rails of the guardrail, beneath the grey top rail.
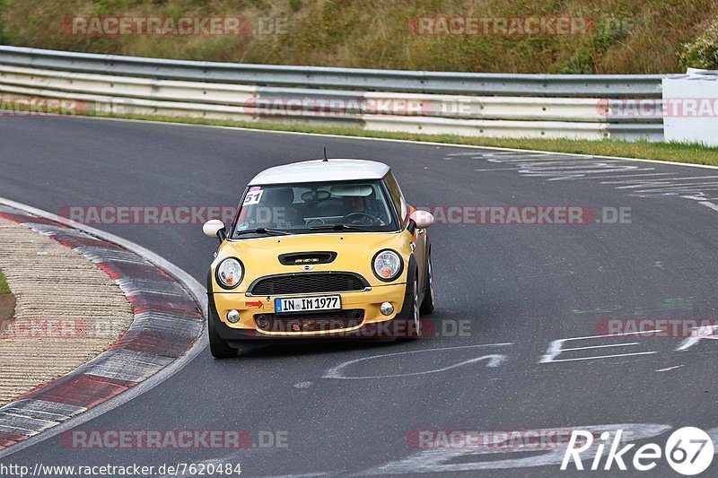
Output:
<instances>
[{"instance_id":1,"label":"cream-white lower rails of the guardrail, beneath the grey top rail","mask_svg":"<svg viewBox=\"0 0 718 478\"><path fill-rule=\"evenodd\" d=\"M290 121L428 135L662 140L660 117L613 117L600 98L267 87L0 64L0 94L77 100L79 113ZM653 101L653 100L651 100Z\"/></svg>"}]
</instances>

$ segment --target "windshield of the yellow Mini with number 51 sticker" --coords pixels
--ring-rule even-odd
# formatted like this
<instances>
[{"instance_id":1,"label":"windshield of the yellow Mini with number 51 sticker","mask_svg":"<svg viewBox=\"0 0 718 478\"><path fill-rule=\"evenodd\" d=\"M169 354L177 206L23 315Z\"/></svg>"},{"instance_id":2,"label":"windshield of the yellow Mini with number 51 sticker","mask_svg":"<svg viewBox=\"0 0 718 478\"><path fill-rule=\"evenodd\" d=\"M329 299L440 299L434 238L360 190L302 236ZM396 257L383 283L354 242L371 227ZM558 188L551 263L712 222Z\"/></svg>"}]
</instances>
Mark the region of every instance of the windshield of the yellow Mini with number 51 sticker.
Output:
<instances>
[{"instance_id":1,"label":"windshield of the yellow Mini with number 51 sticker","mask_svg":"<svg viewBox=\"0 0 718 478\"><path fill-rule=\"evenodd\" d=\"M232 239L317 231L398 230L381 180L250 187Z\"/></svg>"}]
</instances>

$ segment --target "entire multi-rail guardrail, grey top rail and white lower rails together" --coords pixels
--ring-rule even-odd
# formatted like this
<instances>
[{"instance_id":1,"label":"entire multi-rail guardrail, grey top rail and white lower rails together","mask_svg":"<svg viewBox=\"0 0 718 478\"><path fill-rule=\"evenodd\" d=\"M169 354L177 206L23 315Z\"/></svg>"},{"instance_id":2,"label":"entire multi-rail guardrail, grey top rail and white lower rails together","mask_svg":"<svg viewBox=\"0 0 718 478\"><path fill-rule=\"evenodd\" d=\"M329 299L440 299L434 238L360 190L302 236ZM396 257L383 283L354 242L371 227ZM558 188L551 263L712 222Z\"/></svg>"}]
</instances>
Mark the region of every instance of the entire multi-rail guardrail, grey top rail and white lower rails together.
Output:
<instances>
[{"instance_id":1,"label":"entire multi-rail guardrail, grey top rail and white lower rails together","mask_svg":"<svg viewBox=\"0 0 718 478\"><path fill-rule=\"evenodd\" d=\"M100 113L302 121L430 135L661 140L661 115L651 112L660 112L663 76L235 65L0 46L4 97L78 100ZM610 116L611 105L626 97L647 99L642 110L649 114Z\"/></svg>"}]
</instances>

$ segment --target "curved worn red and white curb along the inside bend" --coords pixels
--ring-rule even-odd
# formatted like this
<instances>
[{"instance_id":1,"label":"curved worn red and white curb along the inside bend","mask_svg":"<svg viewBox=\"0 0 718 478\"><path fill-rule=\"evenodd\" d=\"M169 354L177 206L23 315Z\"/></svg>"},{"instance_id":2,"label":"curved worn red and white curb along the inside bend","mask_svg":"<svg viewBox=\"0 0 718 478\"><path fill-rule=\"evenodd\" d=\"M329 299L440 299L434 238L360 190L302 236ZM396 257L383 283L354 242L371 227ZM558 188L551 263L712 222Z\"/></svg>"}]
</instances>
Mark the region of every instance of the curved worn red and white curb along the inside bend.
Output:
<instances>
[{"instance_id":1,"label":"curved worn red and white curb along the inside bend","mask_svg":"<svg viewBox=\"0 0 718 478\"><path fill-rule=\"evenodd\" d=\"M108 351L0 407L0 450L136 387L185 355L202 335L205 314L197 291L156 264L162 261L150 262L118 243L10 205L0 204L0 217L92 261L118 283L135 313L125 335Z\"/></svg>"}]
</instances>

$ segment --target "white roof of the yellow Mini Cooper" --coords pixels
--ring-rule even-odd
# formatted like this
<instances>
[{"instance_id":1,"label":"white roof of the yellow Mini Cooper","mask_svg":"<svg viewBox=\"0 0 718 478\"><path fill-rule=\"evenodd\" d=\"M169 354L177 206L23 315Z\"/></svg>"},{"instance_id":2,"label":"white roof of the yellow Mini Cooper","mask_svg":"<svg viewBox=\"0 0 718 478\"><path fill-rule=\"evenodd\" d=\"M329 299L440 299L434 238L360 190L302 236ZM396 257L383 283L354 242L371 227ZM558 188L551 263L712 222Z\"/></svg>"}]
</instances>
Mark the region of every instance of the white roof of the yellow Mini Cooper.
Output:
<instances>
[{"instance_id":1,"label":"white roof of the yellow Mini Cooper","mask_svg":"<svg viewBox=\"0 0 718 478\"><path fill-rule=\"evenodd\" d=\"M381 179L388 172L389 166L378 161L331 159L302 161L265 169L250 181L249 186Z\"/></svg>"}]
</instances>

